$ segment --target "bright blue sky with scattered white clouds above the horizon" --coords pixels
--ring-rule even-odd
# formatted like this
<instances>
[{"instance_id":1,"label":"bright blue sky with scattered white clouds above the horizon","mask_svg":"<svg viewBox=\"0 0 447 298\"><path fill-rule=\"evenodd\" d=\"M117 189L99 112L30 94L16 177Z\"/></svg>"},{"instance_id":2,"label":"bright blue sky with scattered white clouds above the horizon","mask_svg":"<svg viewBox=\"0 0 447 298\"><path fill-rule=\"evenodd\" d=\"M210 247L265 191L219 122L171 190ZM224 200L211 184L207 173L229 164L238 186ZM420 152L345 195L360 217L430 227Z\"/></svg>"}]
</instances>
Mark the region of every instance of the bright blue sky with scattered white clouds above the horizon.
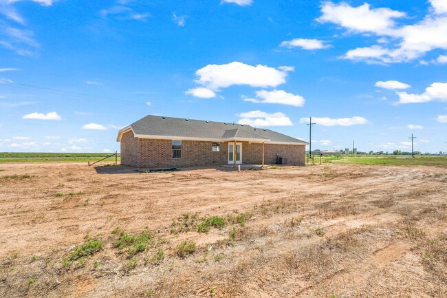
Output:
<instances>
[{"instance_id":1,"label":"bright blue sky with scattered white clouds above the horizon","mask_svg":"<svg viewBox=\"0 0 447 298\"><path fill-rule=\"evenodd\" d=\"M148 114L446 151L447 0L0 0L0 151L119 151Z\"/></svg>"}]
</instances>

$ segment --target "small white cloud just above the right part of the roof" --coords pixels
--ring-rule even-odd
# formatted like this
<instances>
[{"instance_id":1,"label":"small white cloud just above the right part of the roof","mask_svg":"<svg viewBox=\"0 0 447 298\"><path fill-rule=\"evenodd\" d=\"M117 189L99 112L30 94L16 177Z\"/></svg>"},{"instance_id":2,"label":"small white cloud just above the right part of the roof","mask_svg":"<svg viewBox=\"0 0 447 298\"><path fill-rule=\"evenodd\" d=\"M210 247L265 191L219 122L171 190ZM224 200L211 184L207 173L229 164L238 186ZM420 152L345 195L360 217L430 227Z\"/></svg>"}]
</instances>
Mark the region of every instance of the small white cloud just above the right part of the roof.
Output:
<instances>
[{"instance_id":1,"label":"small white cloud just above the right part of the roof","mask_svg":"<svg viewBox=\"0 0 447 298\"><path fill-rule=\"evenodd\" d=\"M267 126L292 126L292 121L289 117L281 112L268 114L265 111L248 111L239 114L241 119L237 123L243 125L251 125L252 127L267 127Z\"/></svg>"}]
</instances>

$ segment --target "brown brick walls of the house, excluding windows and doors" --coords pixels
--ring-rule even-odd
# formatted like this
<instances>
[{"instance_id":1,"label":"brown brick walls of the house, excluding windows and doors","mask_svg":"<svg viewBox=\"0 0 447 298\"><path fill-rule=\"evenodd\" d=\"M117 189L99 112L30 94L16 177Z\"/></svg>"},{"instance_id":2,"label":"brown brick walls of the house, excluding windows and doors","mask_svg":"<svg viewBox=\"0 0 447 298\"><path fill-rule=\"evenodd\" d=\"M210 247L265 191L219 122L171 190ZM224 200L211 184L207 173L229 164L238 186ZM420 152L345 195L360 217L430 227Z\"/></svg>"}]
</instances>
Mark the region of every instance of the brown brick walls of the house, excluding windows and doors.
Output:
<instances>
[{"instance_id":1,"label":"brown brick walls of the house, excluding windows and doors","mask_svg":"<svg viewBox=\"0 0 447 298\"><path fill-rule=\"evenodd\" d=\"M261 164L262 144L242 143L242 163ZM292 165L305 164L305 146L265 144L265 164L274 164L276 154ZM212 142L182 141L182 158L172 158L171 140L137 139L131 131L122 135L121 163L133 167L200 167L228 164L228 142L212 151Z\"/></svg>"}]
</instances>

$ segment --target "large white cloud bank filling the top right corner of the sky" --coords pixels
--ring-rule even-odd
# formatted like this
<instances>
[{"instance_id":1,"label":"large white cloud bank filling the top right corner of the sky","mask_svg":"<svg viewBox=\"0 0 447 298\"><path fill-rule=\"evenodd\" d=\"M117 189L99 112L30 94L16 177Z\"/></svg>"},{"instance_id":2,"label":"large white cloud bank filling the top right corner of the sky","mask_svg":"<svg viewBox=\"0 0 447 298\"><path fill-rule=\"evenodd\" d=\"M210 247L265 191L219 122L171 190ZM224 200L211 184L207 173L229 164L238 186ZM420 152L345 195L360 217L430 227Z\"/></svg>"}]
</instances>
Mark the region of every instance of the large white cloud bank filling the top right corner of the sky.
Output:
<instances>
[{"instance_id":1,"label":"large white cloud bank filling the top right corner of the sky","mask_svg":"<svg viewBox=\"0 0 447 298\"><path fill-rule=\"evenodd\" d=\"M345 2L326 2L322 6L323 16L318 21L336 23L353 33L389 37L386 47L384 43L358 47L349 50L342 58L367 63L402 63L435 49L447 49L447 14L440 13L445 5L440 3L433 1L433 13L426 14L421 21L399 26L394 19L406 17L404 12L389 8L371 9L367 3L354 8Z\"/></svg>"}]
</instances>

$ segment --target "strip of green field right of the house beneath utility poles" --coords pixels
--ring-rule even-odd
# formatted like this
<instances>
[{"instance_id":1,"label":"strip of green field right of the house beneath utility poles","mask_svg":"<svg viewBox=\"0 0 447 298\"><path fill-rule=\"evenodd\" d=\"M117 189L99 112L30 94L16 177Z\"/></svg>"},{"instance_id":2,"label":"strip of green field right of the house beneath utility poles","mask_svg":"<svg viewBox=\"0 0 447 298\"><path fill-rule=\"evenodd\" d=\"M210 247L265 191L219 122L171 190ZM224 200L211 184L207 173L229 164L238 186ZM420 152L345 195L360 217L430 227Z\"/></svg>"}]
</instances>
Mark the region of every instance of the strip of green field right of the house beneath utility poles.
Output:
<instances>
[{"instance_id":1,"label":"strip of green field right of the house beneath utility poles","mask_svg":"<svg viewBox=\"0 0 447 298\"><path fill-rule=\"evenodd\" d=\"M323 156L322 163L338 164L393 164L393 165L447 165L447 156ZM320 157L314 158L314 164L320 163Z\"/></svg>"}]
</instances>

